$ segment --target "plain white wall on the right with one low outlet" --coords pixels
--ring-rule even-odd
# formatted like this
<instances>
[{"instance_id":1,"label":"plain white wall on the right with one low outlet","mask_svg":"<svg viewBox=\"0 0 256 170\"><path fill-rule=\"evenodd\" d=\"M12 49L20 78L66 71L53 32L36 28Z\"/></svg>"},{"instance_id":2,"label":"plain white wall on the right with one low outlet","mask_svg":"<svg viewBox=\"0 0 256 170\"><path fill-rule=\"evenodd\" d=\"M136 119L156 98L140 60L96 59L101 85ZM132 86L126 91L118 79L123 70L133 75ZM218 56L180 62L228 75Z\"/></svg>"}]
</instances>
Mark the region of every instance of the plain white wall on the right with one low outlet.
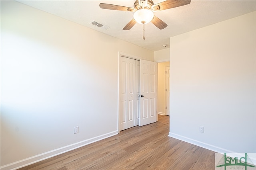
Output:
<instances>
[{"instance_id":1,"label":"plain white wall on the right with one low outlet","mask_svg":"<svg viewBox=\"0 0 256 170\"><path fill-rule=\"evenodd\" d=\"M170 136L220 152L256 152L255 16L170 38Z\"/></svg>"}]
</instances>

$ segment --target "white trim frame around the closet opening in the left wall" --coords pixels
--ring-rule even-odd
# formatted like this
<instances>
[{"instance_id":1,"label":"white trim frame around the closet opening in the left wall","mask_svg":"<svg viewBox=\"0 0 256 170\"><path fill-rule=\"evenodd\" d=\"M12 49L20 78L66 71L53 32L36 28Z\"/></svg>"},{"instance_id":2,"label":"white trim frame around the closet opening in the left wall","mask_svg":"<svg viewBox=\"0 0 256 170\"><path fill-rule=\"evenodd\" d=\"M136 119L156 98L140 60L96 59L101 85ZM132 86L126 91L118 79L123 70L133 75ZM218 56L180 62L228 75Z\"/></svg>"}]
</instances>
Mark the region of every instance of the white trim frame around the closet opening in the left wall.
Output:
<instances>
[{"instance_id":1,"label":"white trim frame around the closet opening in the left wall","mask_svg":"<svg viewBox=\"0 0 256 170\"><path fill-rule=\"evenodd\" d=\"M119 89L120 89L120 78L119 78L119 76L120 76L120 72L119 72L119 70L120 70L120 57L127 57L127 58L130 58L130 59L134 59L134 60L140 60L140 59L142 59L142 60L147 60L147 61L150 61L150 60L148 60L148 59L144 59L144 58L142 58L142 57L138 57L138 56L136 56L136 55L130 55L130 54L127 54L127 53L123 53L123 52L121 52L121 51L118 51L118 96L117 96L117 124L118 124L118 133L120 133L120 122L119 122L119 99L120 99L120 96L119 96Z\"/></svg>"}]
</instances>

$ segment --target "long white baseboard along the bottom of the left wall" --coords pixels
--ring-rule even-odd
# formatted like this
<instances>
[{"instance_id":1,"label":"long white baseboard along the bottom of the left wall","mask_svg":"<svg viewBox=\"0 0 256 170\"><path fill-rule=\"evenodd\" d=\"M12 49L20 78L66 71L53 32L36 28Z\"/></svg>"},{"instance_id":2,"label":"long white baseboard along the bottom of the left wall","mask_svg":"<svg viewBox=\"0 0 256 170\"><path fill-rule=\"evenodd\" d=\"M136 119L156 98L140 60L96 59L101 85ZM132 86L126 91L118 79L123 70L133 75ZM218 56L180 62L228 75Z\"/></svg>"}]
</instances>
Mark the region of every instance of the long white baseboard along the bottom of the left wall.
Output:
<instances>
[{"instance_id":1,"label":"long white baseboard along the bottom of the left wall","mask_svg":"<svg viewBox=\"0 0 256 170\"><path fill-rule=\"evenodd\" d=\"M118 131L113 131L113 132L110 132L110 133L106 133L104 135L93 137L91 139L86 139L84 141L73 143L73 144L67 145L65 147L61 147L61 148L58 148L58 149L50 150L48 152L44 152L44 153L38 154L36 156L32 156L32 157L29 157L29 158L26 158L26 159L23 159L23 160L19 160L19 161L16 161L16 162L13 162L13 163L1 166L0 169L1 170L15 170L15 169L18 169L18 168L22 168L24 166L28 166L30 164L34 164L36 162L40 162L42 160L51 158L53 156L56 156L56 155L59 155L59 154L65 153L65 152L68 152L70 150L74 150L74 149L83 147L83 146L88 145L90 143L94 143L96 141L100 141L102 139L106 139L108 137L111 137L111 136L114 136L114 135L117 135L117 134L118 134Z\"/></svg>"}]
</instances>

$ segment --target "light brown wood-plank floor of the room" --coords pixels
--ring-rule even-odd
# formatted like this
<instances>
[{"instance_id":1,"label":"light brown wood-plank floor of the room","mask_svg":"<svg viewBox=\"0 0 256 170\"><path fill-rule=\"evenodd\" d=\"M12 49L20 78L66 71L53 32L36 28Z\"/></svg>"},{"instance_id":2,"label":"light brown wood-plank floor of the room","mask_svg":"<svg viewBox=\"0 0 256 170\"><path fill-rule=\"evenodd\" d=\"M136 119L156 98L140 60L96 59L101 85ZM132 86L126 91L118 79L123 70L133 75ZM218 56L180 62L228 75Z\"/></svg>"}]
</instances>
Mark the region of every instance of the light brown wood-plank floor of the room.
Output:
<instances>
[{"instance_id":1,"label":"light brown wood-plank floor of the room","mask_svg":"<svg viewBox=\"0 0 256 170\"><path fill-rule=\"evenodd\" d=\"M21 168L22 170L214 170L214 153L168 137L169 117Z\"/></svg>"}]
</instances>

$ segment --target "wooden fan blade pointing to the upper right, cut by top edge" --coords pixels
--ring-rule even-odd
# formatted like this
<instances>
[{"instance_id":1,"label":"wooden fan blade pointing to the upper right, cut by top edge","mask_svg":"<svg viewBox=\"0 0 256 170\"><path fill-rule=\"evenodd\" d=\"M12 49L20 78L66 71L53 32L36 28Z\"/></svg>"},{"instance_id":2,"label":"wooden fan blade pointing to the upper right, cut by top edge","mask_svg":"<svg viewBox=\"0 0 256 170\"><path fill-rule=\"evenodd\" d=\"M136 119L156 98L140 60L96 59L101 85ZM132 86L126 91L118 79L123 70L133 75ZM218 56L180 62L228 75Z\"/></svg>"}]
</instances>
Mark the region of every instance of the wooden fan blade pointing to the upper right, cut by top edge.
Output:
<instances>
[{"instance_id":1,"label":"wooden fan blade pointing to the upper right, cut by top edge","mask_svg":"<svg viewBox=\"0 0 256 170\"><path fill-rule=\"evenodd\" d=\"M166 0L152 6L153 11L167 10L190 4L191 0Z\"/></svg>"}]
</instances>

